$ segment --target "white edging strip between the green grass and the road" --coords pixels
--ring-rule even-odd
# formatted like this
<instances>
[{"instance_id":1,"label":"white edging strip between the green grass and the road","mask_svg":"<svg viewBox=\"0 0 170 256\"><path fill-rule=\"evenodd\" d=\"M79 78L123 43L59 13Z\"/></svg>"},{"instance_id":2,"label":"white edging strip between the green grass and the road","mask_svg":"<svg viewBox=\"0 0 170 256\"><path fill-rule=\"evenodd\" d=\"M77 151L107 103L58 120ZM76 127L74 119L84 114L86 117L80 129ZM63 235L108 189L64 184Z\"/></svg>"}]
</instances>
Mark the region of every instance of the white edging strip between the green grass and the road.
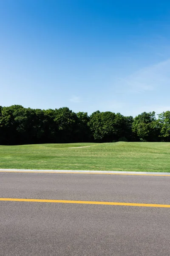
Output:
<instances>
[{"instance_id":1,"label":"white edging strip between the green grass and the road","mask_svg":"<svg viewBox=\"0 0 170 256\"><path fill-rule=\"evenodd\" d=\"M70 172L70 173L115 173L115 174L153 174L170 175L170 172L123 172L123 171L83 171L83 170L37 170L37 169L0 169L0 172Z\"/></svg>"}]
</instances>

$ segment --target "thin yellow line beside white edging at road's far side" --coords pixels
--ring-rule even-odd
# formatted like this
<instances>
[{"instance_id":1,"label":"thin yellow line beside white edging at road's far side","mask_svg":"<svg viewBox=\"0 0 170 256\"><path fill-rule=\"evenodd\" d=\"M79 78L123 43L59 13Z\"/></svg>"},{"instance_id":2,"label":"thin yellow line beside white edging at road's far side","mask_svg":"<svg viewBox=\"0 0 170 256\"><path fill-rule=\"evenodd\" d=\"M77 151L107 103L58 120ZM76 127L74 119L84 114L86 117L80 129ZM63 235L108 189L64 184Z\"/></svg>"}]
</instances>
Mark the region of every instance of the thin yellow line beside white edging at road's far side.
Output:
<instances>
[{"instance_id":1,"label":"thin yellow line beside white edging at road's far side","mask_svg":"<svg viewBox=\"0 0 170 256\"><path fill-rule=\"evenodd\" d=\"M142 173L102 173L102 172L52 172L52 171L46 171L46 172L37 172L37 171L0 171L0 172L25 172L25 173L58 173L58 174L62 174L62 173L68 173L68 174L109 174L109 175L145 175L145 176L170 176L170 174L142 174Z\"/></svg>"}]
</instances>

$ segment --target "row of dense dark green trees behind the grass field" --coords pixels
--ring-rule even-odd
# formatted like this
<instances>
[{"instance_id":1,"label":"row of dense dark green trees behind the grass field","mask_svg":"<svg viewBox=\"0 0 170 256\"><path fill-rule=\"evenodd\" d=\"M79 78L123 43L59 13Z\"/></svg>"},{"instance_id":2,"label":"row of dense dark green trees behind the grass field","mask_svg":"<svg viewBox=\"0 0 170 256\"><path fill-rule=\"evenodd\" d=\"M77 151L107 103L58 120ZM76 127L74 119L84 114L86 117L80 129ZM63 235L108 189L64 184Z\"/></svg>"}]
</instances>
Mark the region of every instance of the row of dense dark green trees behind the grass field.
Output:
<instances>
[{"instance_id":1,"label":"row of dense dark green trees behind the grass field","mask_svg":"<svg viewBox=\"0 0 170 256\"><path fill-rule=\"evenodd\" d=\"M123 116L111 111L0 106L0 145L116 141L170 142L170 111Z\"/></svg>"}]
</instances>

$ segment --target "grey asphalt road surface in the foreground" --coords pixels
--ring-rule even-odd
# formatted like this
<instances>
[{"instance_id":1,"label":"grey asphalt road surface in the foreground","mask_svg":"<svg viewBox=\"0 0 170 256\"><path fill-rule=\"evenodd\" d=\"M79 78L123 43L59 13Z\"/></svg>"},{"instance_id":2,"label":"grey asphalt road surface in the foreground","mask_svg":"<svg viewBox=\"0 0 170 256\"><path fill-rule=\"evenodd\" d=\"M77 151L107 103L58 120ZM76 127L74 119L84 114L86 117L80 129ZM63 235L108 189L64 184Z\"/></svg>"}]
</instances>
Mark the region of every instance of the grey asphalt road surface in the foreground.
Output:
<instances>
[{"instance_id":1,"label":"grey asphalt road surface in the foreground","mask_svg":"<svg viewBox=\"0 0 170 256\"><path fill-rule=\"evenodd\" d=\"M0 173L0 198L170 205L170 176ZM0 201L0 256L170 256L170 208Z\"/></svg>"}]
</instances>

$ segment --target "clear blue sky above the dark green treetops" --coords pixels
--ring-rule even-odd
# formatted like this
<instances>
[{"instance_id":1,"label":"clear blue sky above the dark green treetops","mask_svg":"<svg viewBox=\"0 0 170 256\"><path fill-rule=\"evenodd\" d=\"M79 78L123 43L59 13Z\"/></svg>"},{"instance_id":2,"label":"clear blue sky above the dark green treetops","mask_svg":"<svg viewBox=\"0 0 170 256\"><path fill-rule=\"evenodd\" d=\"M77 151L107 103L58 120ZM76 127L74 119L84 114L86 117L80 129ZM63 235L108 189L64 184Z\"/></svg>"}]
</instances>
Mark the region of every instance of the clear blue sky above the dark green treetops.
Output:
<instances>
[{"instance_id":1,"label":"clear blue sky above the dark green treetops","mask_svg":"<svg viewBox=\"0 0 170 256\"><path fill-rule=\"evenodd\" d=\"M170 1L0 1L0 105L170 110Z\"/></svg>"}]
</instances>

